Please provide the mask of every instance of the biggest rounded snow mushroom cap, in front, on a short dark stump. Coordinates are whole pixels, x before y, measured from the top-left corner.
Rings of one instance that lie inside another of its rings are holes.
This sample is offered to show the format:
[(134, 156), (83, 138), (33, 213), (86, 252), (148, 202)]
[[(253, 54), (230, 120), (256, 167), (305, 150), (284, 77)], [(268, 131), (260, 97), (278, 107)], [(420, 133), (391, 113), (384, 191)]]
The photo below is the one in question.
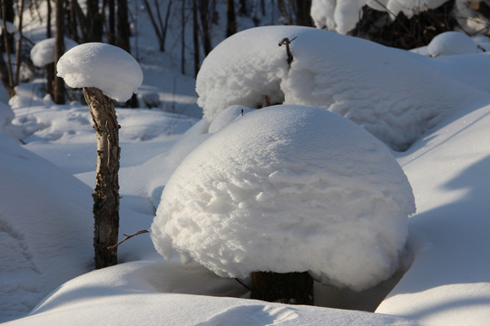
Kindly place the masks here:
[(223, 277), (309, 272), (367, 289), (387, 279), (415, 212), (387, 149), (336, 113), (298, 105), (254, 110), (184, 158), (151, 227), (172, 249)]

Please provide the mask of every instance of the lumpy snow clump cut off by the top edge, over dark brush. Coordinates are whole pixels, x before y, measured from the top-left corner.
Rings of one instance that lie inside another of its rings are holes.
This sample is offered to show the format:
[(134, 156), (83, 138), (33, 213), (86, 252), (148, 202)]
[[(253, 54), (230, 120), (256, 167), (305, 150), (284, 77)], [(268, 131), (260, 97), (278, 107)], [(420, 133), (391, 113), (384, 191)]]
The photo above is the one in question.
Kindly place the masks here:
[[(410, 18), (421, 10), (434, 9), (446, 2), (447, 0), (313, 0), (310, 13), (318, 28), (348, 34), (358, 24), (364, 5), (386, 11), (393, 19), (400, 12)], [(464, 0), (456, 2), (463, 3)]]

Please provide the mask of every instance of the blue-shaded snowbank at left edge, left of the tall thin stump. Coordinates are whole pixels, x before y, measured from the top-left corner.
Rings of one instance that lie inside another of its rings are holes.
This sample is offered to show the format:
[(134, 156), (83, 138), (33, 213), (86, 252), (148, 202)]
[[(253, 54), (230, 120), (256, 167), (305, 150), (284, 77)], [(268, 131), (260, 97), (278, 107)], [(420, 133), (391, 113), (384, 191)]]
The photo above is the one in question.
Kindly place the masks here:
[(84, 247), (92, 245), (93, 220), (89, 187), (3, 132), (0, 171), (2, 321), (88, 272), (93, 254)]

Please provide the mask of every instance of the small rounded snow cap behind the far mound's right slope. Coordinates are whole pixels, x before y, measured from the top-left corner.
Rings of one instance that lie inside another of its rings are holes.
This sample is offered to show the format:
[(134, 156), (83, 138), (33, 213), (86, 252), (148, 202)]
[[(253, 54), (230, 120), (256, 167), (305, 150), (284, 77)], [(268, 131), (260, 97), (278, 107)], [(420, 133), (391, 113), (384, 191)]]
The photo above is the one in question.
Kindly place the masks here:
[(460, 32), (445, 32), (436, 35), (427, 45), (427, 53), (431, 57), (481, 53), (478, 45), (471, 37)]

